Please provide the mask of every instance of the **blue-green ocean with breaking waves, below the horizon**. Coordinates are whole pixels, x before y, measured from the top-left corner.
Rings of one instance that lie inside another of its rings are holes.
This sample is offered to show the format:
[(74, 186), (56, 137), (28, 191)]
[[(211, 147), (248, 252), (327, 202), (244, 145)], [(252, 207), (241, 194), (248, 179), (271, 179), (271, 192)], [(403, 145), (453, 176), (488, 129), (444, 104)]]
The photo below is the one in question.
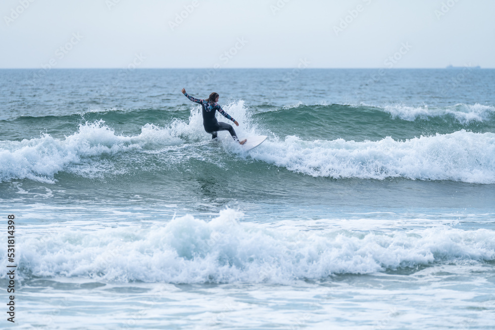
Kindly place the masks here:
[[(211, 140), (182, 88), (267, 140)], [(1, 328), (495, 328), (495, 70), (3, 69), (0, 91)]]

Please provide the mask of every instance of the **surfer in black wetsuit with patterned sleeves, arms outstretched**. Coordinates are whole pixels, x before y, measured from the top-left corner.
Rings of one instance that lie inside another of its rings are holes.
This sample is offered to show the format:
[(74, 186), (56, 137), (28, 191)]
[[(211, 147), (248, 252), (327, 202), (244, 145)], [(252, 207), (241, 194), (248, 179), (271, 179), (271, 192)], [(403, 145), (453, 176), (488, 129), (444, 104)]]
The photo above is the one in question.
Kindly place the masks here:
[(211, 134), (211, 139), (216, 139), (217, 138), (217, 132), (218, 131), (229, 131), (230, 135), (232, 135), (232, 138), (234, 138), (235, 141), (238, 141), (241, 144), (246, 143), (247, 140), (244, 141), (239, 141), (236, 135), (236, 131), (234, 131), (234, 128), (232, 125), (229, 125), (227, 123), (223, 122), (218, 122), (215, 118), (215, 111), (220, 112), (225, 118), (232, 120), (236, 126), (239, 126), (239, 123), (237, 120), (232, 118), (227, 112), (225, 112), (222, 107), (217, 103), (219, 95), (217, 93), (211, 93), (210, 96), (207, 99), (197, 99), (194, 98), (191, 95), (188, 95), (186, 93), (185, 89), (182, 89), (182, 94), (189, 98), (191, 101), (196, 102), (201, 104), (202, 107), (202, 113), (203, 113), (203, 127), (206, 133)]

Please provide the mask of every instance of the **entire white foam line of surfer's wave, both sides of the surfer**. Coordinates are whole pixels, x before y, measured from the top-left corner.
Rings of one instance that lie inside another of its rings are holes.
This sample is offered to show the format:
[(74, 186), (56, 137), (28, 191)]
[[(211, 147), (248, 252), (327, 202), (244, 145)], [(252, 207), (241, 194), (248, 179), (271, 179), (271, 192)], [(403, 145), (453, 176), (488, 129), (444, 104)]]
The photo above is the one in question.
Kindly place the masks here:
[[(495, 183), (494, 133), (462, 130), (406, 141), (394, 141), (390, 137), (361, 142), (342, 139), (303, 141), (296, 136), (280, 140), (252, 122), (251, 111), (243, 100), (230, 102), (224, 109), (241, 124), (235, 127), (239, 138), (269, 136), (267, 141), (249, 152), (252, 158), (297, 173), (335, 179), (402, 177)], [(243, 157), (248, 155), (228, 133), (222, 133), (218, 135), (222, 147)], [(178, 152), (167, 154), (169, 164), (187, 161), (191, 157), (203, 159), (206, 156), (203, 151), (207, 151), (204, 144), (208, 142), (209, 136), (204, 132), (197, 105), (193, 105), (188, 121), (175, 120), (168, 127), (146, 124), (136, 136), (117, 135), (103, 121), (85, 123), (64, 139), (44, 134), (31, 140), (0, 141), (0, 182), (26, 178), (53, 183), (54, 175), (61, 171), (98, 177), (115, 165), (108, 159), (91, 158), (104, 154), (176, 150)], [(187, 153), (183, 152), (184, 146), (188, 146)], [(113, 171), (119, 174), (125, 169)]]

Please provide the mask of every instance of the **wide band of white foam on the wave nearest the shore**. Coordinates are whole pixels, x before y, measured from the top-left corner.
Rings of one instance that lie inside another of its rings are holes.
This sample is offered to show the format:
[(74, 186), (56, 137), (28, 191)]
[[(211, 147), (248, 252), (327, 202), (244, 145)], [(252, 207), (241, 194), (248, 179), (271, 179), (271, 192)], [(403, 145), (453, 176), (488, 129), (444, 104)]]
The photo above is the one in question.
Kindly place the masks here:
[[(58, 227), (49, 234), (46, 229), (32, 232), (16, 239), (18, 275), (118, 282), (289, 283), (495, 259), (495, 233), (486, 229), (299, 231), (240, 223), (242, 217), (228, 209), (209, 222), (188, 215), (146, 228), (95, 224), (88, 229)], [(5, 249), (0, 245), (0, 253)], [(6, 262), (1, 259), (0, 267)]]

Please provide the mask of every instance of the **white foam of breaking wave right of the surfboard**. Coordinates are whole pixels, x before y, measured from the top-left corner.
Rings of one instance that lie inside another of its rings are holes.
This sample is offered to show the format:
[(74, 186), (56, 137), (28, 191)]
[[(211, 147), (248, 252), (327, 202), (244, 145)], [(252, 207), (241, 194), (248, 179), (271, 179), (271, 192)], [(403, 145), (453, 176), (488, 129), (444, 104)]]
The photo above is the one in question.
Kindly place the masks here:
[(495, 183), (495, 134), (452, 134), (395, 141), (270, 139), (251, 157), (314, 177)]

